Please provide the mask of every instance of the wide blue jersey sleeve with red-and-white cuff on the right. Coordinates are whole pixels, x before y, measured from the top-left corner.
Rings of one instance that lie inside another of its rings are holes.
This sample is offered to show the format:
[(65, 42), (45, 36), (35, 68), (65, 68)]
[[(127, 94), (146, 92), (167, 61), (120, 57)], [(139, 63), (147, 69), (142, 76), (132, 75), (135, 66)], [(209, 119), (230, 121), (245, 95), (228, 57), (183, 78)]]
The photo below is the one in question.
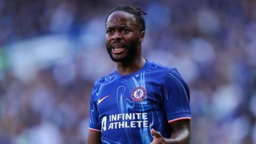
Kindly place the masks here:
[(168, 123), (191, 119), (189, 87), (177, 69), (165, 76), (162, 96)]

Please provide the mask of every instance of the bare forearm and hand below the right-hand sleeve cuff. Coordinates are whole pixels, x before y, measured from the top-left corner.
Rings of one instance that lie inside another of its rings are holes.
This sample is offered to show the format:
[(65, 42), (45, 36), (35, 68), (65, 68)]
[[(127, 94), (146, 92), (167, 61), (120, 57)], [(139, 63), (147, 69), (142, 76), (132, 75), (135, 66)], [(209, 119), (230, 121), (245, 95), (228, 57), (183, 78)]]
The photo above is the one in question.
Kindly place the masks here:
[(151, 129), (154, 135), (152, 144), (156, 143), (173, 143), (173, 144), (188, 144), (190, 143), (190, 120), (181, 120), (170, 123), (172, 136), (169, 139), (163, 138), (161, 133)]

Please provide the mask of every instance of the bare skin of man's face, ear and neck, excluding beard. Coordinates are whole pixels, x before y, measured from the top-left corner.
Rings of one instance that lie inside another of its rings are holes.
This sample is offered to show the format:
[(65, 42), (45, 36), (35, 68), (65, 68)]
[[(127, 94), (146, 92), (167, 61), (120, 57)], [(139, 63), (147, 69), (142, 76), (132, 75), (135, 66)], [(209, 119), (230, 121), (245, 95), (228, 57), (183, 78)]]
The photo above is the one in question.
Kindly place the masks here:
[[(144, 36), (145, 31), (139, 30), (135, 17), (132, 14), (117, 11), (109, 15), (106, 22), (106, 44), (109, 47), (113, 46), (113, 43), (117, 43), (116, 45), (124, 44), (122, 53), (115, 54), (111, 51), (112, 57), (121, 60), (126, 57), (128, 51), (137, 49), (137, 53), (131, 59), (117, 62), (119, 74), (127, 75), (134, 73), (145, 65), (146, 60), (141, 55), (141, 43)], [(138, 42), (137, 47), (131, 47), (131, 43), (136, 42)]]

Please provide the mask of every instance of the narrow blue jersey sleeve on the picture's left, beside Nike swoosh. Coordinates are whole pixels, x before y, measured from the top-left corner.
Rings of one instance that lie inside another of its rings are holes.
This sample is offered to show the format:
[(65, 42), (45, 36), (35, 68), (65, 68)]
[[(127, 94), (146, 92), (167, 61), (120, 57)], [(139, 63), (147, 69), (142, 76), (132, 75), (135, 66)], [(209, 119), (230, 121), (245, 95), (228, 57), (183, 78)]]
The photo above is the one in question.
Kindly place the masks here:
[(95, 95), (96, 95), (96, 92), (95, 92), (95, 85), (94, 85), (92, 89), (91, 100), (90, 100), (90, 121), (89, 121), (88, 129), (90, 131), (101, 132), (101, 121), (99, 117), (99, 111), (98, 111), (97, 103), (95, 103), (94, 101)]

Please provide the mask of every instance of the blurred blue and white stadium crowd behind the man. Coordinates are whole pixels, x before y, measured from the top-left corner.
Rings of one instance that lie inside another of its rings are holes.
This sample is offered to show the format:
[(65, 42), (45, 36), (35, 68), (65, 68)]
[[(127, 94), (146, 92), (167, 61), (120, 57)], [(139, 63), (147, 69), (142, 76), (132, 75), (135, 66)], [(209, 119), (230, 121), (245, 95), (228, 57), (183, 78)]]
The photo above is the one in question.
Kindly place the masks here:
[(144, 57), (190, 86), (191, 143), (256, 143), (256, 1), (0, 0), (1, 144), (86, 143), (116, 4), (148, 13)]

